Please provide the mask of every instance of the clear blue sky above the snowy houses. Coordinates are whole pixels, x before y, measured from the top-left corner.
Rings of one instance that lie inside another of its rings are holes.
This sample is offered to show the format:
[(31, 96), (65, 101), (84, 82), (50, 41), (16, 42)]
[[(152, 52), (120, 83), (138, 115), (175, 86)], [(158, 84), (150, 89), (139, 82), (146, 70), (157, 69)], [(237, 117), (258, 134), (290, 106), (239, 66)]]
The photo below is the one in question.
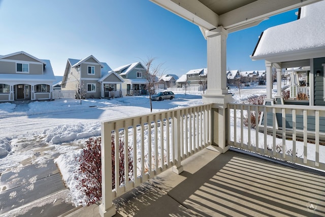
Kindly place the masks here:
[[(294, 21), (290, 11), (227, 39), (227, 69), (261, 70), (252, 61), (258, 36), (270, 26)], [(207, 46), (199, 27), (149, 0), (0, 0), (0, 55), (25, 51), (50, 59), (61, 76), (68, 58), (93, 55), (114, 69), (155, 58), (165, 74), (181, 76), (207, 66)]]

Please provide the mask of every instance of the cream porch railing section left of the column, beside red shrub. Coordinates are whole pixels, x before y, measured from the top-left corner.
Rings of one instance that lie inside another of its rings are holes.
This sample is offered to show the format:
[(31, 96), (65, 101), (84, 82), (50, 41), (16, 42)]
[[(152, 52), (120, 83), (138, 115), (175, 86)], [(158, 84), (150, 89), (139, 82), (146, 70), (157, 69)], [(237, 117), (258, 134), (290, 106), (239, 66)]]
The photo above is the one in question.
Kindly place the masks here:
[[(123, 162), (118, 157), (121, 154), (112, 155), (112, 139), (113, 153), (119, 153), (118, 144), (127, 144)], [(211, 104), (102, 122), (101, 214), (115, 213), (114, 198), (168, 168), (174, 166), (175, 172), (181, 172), (181, 161), (210, 143)], [(112, 165), (115, 165), (114, 180)], [(119, 171), (120, 168), (124, 171)]]

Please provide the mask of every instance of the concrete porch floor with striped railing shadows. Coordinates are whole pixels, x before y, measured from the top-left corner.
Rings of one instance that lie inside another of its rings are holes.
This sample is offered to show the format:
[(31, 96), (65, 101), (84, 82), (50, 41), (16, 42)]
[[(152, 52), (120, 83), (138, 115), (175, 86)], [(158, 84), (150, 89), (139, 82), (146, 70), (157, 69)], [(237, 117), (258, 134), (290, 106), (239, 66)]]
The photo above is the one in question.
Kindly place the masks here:
[[(204, 149), (113, 202), (115, 216), (324, 216), (325, 174)], [(93, 204), (65, 216), (100, 216)]]

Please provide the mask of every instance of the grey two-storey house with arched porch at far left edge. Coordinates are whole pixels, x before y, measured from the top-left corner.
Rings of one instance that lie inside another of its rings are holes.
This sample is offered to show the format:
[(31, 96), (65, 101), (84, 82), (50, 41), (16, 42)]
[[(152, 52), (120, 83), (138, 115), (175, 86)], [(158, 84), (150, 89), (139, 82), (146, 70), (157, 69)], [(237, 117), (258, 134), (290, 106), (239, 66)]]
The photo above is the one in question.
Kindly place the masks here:
[(0, 56), (0, 101), (51, 100), (54, 81), (50, 60), (24, 51)]

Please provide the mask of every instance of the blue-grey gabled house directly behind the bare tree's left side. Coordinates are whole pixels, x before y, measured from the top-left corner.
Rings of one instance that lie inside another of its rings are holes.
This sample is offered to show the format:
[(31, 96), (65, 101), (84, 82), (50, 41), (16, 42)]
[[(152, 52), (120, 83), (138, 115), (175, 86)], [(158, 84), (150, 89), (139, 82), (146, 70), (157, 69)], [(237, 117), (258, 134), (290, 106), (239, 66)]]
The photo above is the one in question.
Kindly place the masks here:
[(114, 69), (115, 73), (123, 78), (123, 95), (147, 94), (147, 69), (141, 62), (122, 65)]

